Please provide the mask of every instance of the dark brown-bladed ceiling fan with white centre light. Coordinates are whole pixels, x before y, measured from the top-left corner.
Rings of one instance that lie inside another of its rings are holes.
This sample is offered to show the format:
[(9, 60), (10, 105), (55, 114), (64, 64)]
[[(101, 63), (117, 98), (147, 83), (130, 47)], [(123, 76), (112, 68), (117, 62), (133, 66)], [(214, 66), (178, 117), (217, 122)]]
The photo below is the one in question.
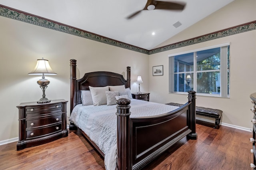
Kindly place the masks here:
[(146, 6), (137, 12), (134, 12), (130, 16), (126, 17), (127, 19), (131, 19), (143, 10), (183, 10), (186, 4), (183, 2), (166, 2), (166, 1), (158, 1), (158, 0), (148, 0)]

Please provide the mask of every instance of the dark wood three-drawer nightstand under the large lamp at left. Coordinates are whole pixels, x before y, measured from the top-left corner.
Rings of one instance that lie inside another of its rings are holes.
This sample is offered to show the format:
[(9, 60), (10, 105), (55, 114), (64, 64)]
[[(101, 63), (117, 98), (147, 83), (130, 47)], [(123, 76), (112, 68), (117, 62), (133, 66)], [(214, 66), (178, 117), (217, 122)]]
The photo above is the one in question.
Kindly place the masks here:
[(63, 99), (49, 103), (20, 103), (17, 150), (45, 144), (68, 136), (67, 103)]

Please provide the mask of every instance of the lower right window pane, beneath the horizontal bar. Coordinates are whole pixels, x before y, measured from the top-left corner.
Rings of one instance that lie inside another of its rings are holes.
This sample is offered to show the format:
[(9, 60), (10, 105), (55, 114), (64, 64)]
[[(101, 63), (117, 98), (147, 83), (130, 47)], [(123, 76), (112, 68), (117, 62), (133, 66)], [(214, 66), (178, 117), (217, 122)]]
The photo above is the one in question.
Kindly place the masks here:
[(220, 71), (197, 73), (197, 92), (220, 94)]

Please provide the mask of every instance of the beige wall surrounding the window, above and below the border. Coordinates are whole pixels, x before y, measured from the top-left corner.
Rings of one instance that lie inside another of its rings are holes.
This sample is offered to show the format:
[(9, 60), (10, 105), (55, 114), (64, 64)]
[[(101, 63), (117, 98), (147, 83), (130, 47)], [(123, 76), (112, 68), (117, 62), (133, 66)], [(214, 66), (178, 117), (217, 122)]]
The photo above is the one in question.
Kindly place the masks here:
[[(209, 34), (255, 20), (255, 0), (236, 0), (170, 39), (165, 45)], [(234, 24), (233, 24), (234, 23)], [(191, 36), (191, 34), (193, 36)], [(197, 96), (197, 106), (223, 111), (222, 123), (252, 128), (249, 95), (256, 92), (256, 30), (198, 43), (149, 56), (150, 99), (159, 103), (186, 103), (186, 95), (168, 93), (168, 55), (230, 42), (230, 98)], [(162, 44), (164, 45), (164, 44)], [(152, 66), (164, 65), (163, 76), (152, 76)]]

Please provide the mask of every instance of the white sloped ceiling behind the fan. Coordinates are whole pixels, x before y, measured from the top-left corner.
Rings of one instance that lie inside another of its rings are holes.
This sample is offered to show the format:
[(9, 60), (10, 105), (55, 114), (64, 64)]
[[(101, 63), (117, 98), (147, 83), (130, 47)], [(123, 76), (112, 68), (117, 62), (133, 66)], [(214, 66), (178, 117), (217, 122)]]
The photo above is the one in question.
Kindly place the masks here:
[[(147, 0), (0, 0), (0, 4), (150, 50), (234, 0), (165, 1), (185, 2), (186, 7), (144, 10), (128, 20)], [(175, 28), (176, 22), (182, 25)]]

